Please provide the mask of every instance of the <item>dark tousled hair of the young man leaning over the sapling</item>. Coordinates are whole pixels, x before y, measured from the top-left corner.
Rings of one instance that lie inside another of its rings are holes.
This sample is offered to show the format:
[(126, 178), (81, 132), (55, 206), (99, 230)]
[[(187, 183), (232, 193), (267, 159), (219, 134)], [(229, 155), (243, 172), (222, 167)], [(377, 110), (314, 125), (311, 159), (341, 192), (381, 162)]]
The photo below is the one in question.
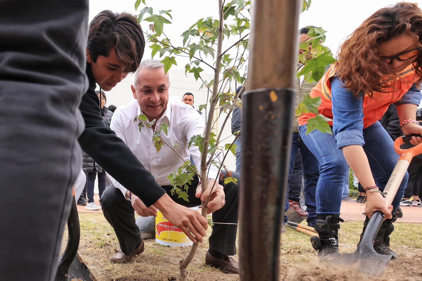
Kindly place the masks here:
[(92, 60), (108, 56), (116, 47), (116, 55), (126, 65), (126, 72), (135, 72), (145, 48), (142, 29), (130, 13), (102, 11), (89, 24), (87, 49)]

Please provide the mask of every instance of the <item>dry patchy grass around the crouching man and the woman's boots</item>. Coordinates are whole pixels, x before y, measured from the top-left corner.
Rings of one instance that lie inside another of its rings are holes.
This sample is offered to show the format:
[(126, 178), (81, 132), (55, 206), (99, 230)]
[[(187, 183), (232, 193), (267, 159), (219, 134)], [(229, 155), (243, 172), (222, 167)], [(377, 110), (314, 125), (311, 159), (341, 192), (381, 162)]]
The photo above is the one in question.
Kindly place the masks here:
[[(178, 280), (179, 260), (189, 251), (189, 247), (170, 248), (145, 240), (145, 252), (135, 257), (133, 262), (116, 265), (109, 261), (119, 243), (113, 229), (103, 214), (79, 214), (81, 222), (81, 242), (79, 254), (98, 281), (168, 281)], [(339, 233), (340, 252), (354, 252), (362, 230), (362, 222), (344, 222)], [(211, 231), (208, 231), (208, 234)], [(65, 247), (65, 233), (62, 251)], [(398, 254), (410, 256), (422, 253), (422, 224), (396, 223), (392, 234), (392, 248)], [(189, 265), (189, 280), (235, 281), (236, 275), (221, 273), (205, 265), (204, 258), (208, 242), (198, 247), (198, 252)], [(235, 259), (238, 257), (235, 256)], [(287, 276), (292, 265), (300, 265), (316, 259), (316, 252), (309, 243), (309, 236), (287, 229), (282, 236), (280, 255), (280, 279)], [(422, 268), (420, 268), (422, 270)], [(394, 280), (394, 279), (392, 279)]]

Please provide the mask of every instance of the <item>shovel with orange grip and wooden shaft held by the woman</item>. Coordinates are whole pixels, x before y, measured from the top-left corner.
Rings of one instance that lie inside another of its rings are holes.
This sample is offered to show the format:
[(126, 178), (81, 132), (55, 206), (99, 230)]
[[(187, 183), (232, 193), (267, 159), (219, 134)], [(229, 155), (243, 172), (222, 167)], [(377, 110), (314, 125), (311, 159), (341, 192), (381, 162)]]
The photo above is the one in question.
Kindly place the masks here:
[[(410, 142), (412, 136), (419, 135), (402, 136), (394, 142), (394, 149), (400, 155), (400, 158), (383, 191), (384, 201), (387, 207), (391, 205), (412, 158), (422, 153), (422, 143), (409, 149), (400, 148), (400, 145)], [(330, 262), (336, 265), (358, 266), (362, 273), (369, 276), (380, 275), (392, 257), (392, 255), (378, 254), (373, 249), (373, 241), (383, 221), (384, 214), (381, 211), (374, 212), (366, 227), (365, 233), (363, 233), (361, 241), (357, 245), (356, 252), (341, 254), (341, 256), (336, 257)]]

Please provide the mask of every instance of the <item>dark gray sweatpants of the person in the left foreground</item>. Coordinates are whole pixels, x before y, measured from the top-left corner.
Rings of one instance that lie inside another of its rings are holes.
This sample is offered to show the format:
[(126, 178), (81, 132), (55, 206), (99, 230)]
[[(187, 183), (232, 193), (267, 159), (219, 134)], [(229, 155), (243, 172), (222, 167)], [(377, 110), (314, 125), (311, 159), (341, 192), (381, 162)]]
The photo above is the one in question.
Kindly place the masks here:
[(81, 167), (88, 0), (0, 0), (0, 279), (50, 281)]

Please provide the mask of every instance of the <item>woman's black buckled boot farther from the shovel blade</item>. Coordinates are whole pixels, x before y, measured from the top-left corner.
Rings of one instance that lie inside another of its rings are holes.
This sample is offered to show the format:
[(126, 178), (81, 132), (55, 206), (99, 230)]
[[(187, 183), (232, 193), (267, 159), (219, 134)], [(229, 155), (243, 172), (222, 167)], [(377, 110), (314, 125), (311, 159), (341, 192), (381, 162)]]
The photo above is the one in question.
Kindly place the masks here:
[(318, 251), (318, 258), (321, 260), (330, 260), (338, 254), (338, 229), (339, 222), (344, 222), (337, 214), (317, 214), (315, 222), (315, 231), (317, 236), (311, 237), (311, 244)]

